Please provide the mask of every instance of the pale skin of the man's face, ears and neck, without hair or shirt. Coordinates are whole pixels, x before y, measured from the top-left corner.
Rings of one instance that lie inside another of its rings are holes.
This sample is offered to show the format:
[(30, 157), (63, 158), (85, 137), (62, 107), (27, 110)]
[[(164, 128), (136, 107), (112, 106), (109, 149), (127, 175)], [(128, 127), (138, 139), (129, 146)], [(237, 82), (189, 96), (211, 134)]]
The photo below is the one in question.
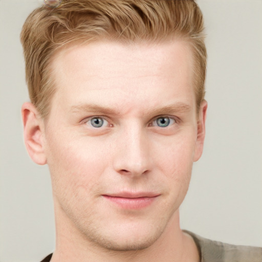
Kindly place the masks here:
[(182, 40), (99, 41), (55, 55), (48, 119), (22, 108), (29, 155), (51, 173), (52, 262), (200, 261), (179, 224), (205, 137), (192, 67)]

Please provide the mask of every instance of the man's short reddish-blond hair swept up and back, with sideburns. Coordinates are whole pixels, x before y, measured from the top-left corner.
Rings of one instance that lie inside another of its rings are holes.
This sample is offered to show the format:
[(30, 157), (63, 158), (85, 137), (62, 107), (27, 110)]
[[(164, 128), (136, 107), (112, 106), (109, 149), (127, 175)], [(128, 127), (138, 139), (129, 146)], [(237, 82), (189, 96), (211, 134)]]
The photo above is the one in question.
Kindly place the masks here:
[(55, 92), (50, 63), (54, 53), (74, 41), (110, 39), (124, 42), (165, 41), (179, 37), (191, 44), (195, 95), (205, 94), (206, 48), (203, 16), (193, 0), (63, 0), (43, 5), (21, 31), (31, 102), (45, 118)]

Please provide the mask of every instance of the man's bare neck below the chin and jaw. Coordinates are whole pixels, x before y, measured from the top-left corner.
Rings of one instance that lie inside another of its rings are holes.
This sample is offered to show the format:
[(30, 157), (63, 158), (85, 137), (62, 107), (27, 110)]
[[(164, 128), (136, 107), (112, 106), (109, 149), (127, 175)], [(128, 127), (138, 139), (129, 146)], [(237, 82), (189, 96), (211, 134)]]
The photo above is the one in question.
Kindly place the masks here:
[[(56, 216), (57, 217), (57, 216)], [(118, 251), (105, 249), (79, 233), (64, 217), (56, 221), (56, 250), (51, 262), (198, 262), (199, 254), (192, 238), (179, 226), (179, 211), (174, 213), (157, 241), (142, 250)]]

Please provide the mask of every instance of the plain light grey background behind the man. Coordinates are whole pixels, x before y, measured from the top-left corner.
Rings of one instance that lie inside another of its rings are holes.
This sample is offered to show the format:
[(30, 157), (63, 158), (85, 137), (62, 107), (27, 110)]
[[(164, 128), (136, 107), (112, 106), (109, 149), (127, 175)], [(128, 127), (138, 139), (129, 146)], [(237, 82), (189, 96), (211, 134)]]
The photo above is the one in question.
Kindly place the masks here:
[[(39, 0), (0, 0), (0, 261), (39, 261), (54, 249), (47, 166), (28, 157), (28, 100), (19, 33)], [(182, 228), (262, 246), (262, 1), (198, 1), (207, 37), (205, 150), (181, 207)]]

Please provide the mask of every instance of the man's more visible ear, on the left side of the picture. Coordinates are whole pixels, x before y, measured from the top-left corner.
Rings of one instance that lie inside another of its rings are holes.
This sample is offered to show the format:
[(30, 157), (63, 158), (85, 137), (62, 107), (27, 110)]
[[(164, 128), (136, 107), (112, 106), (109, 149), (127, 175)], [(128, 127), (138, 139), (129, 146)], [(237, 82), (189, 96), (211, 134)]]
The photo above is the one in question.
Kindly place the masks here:
[(43, 120), (36, 107), (29, 102), (21, 108), (24, 124), (24, 140), (31, 159), (39, 165), (45, 165), (47, 159), (43, 150)]

